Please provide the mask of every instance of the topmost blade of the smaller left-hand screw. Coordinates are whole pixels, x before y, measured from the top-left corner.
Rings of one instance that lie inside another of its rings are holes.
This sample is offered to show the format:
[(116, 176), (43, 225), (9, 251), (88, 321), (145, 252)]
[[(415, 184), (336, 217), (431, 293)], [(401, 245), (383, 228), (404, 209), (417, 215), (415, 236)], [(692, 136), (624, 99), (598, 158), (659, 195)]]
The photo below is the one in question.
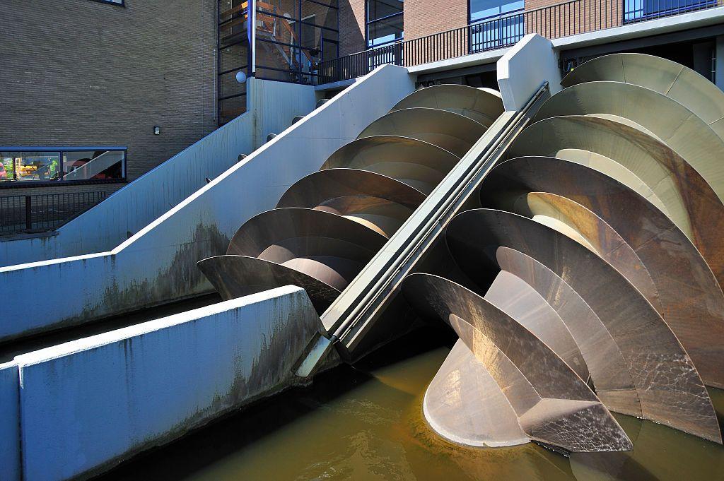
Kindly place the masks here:
[(442, 84), (421, 88), (397, 102), (390, 111), (403, 108), (437, 108), (460, 114), (490, 127), (503, 113), (500, 94), (480, 90), (467, 85)]

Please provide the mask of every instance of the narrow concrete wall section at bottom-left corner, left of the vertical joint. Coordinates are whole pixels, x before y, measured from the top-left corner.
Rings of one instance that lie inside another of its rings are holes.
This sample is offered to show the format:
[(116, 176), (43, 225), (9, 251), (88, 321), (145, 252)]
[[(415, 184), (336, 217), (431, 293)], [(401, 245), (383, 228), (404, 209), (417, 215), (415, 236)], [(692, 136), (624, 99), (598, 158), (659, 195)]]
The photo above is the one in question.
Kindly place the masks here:
[(0, 481), (20, 481), (20, 380), (17, 364), (0, 364)]

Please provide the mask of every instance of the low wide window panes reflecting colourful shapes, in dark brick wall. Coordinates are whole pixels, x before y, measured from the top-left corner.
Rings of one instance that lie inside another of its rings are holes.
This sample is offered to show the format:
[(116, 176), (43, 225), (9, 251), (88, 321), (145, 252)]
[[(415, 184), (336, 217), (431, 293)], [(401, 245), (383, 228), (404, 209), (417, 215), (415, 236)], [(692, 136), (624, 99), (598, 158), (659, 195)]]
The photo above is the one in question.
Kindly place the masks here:
[(125, 179), (125, 148), (0, 147), (0, 184)]

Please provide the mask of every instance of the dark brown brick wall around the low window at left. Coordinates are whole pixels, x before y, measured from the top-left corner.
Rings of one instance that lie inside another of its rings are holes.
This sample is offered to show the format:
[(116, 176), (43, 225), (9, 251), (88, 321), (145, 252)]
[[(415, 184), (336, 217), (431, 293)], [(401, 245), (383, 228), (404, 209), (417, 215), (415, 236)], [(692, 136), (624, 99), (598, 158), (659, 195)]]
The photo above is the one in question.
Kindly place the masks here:
[(216, 128), (215, 12), (216, 0), (1, 0), (0, 145), (127, 145), (129, 180), (166, 161)]

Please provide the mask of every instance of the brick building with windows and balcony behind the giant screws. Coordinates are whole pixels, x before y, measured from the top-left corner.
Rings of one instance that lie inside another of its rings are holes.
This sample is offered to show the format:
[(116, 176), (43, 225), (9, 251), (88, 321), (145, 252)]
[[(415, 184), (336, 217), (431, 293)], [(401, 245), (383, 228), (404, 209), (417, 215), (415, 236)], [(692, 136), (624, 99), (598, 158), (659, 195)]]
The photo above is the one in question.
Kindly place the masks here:
[[(593, 32), (586, 46), (560, 50), (562, 69), (641, 51), (724, 84), (715, 75), (722, 22), (712, 15), (700, 27), (675, 25), (676, 15), (717, 1), (256, 0), (254, 12), (247, 0), (4, 0), (0, 203), (117, 190), (242, 114), (252, 75), (318, 85), (383, 63), (467, 57), (418, 82), (496, 87), (495, 59), (526, 33)], [(648, 32), (645, 21), (658, 18), (674, 20)], [(618, 33), (627, 26), (644, 27)]]

